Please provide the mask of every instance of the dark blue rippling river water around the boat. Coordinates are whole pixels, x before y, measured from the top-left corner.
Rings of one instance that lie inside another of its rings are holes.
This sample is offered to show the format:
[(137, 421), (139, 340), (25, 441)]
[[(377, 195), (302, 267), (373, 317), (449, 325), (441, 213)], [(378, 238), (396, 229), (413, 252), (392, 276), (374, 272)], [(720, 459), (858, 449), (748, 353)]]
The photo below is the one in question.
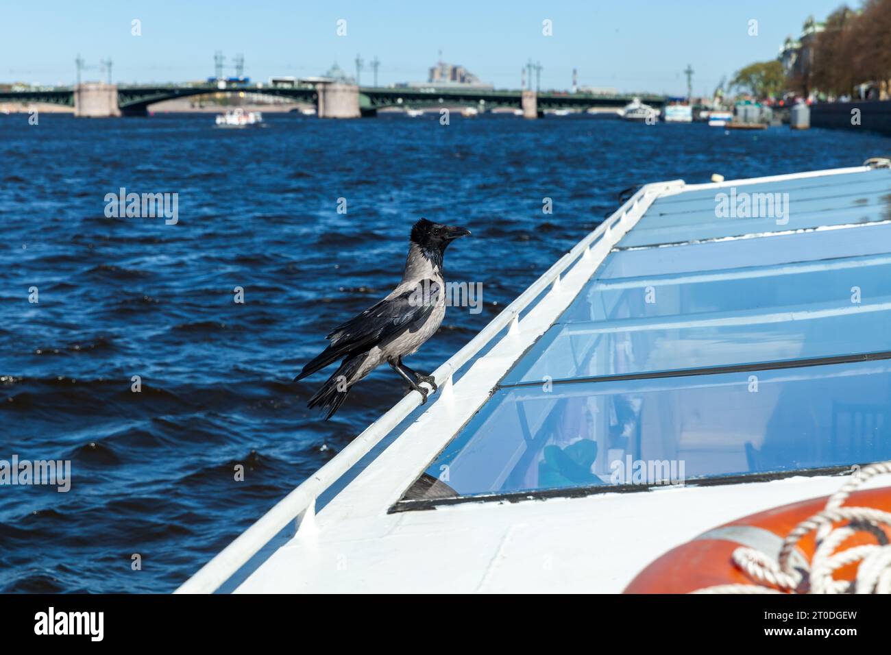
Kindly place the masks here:
[[(417, 217), (470, 227), (446, 273), (485, 300), (449, 310), (410, 362), (427, 371), (626, 187), (891, 151), (865, 131), (266, 118), (0, 116), (0, 459), (72, 467), (69, 493), (0, 486), (0, 591), (171, 591), (402, 397), (380, 370), (323, 422), (305, 407), (323, 375), (290, 381), (396, 283)], [(178, 193), (178, 223), (106, 217), (119, 187)]]

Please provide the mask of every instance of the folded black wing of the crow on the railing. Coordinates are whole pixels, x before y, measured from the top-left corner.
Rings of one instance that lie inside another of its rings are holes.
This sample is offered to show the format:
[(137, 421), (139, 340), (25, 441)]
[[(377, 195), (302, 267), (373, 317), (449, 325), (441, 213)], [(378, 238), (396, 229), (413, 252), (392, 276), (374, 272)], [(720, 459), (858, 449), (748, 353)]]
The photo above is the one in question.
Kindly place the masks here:
[(341, 357), (367, 352), (383, 340), (409, 329), (408, 326), (429, 316), (442, 296), (433, 280), (422, 280), (409, 291), (381, 300), (362, 314), (331, 331), (331, 345), (303, 367), (294, 381), (323, 369)]

